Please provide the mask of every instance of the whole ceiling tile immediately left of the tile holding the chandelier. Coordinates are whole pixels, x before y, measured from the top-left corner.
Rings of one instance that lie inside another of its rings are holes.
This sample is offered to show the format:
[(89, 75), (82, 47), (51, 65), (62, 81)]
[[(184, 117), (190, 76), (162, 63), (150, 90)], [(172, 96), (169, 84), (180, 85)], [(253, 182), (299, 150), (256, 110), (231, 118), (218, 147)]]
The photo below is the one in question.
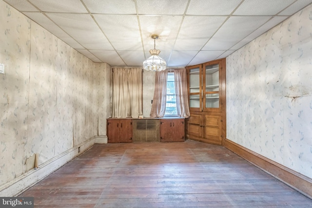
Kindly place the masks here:
[(94, 18), (117, 51), (143, 50), (137, 16), (94, 15)]

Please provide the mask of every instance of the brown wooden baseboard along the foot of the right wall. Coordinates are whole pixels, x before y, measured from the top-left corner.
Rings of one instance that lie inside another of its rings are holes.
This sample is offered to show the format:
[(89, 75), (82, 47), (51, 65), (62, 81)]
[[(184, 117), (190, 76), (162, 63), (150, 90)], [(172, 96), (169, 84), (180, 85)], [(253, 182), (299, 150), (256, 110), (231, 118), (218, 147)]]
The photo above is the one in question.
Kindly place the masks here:
[(225, 148), (312, 199), (312, 179), (225, 139)]

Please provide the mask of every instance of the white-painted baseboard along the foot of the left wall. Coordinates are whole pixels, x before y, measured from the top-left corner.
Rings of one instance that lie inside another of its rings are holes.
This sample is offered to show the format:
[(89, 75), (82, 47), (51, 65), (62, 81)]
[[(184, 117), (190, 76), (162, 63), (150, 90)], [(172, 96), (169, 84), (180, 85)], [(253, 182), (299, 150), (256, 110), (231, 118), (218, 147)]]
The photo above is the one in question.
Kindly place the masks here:
[[(95, 136), (87, 139), (81, 144), (59, 154), (58, 156), (39, 165), (38, 169), (32, 169), (13, 180), (0, 186), (1, 197), (18, 196), (22, 191), (32, 187), (47, 175), (58, 170), (64, 164), (68, 163), (82, 152), (88, 150), (95, 144)], [(80, 152), (78, 152), (78, 150)]]

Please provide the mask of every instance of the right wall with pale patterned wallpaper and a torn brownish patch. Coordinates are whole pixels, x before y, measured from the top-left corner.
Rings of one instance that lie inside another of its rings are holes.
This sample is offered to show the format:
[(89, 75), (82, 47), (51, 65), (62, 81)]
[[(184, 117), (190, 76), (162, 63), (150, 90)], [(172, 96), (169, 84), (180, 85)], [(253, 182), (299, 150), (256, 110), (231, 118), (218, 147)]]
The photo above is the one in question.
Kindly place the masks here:
[(227, 57), (227, 138), (312, 178), (312, 5)]

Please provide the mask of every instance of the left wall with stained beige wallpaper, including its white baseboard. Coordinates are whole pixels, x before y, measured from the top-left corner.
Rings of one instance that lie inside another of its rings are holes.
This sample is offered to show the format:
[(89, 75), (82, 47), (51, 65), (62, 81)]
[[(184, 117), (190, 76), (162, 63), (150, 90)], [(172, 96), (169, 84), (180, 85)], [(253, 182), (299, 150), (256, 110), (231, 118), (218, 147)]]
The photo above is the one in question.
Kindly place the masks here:
[[(106, 120), (100, 132), (98, 126), (100, 116), (109, 113), (110, 73), (103, 71), (109, 66), (82, 56), (3, 1), (0, 37), (5, 66), (0, 74), (0, 195), (10, 196), (77, 156), (79, 146), (88, 149), (95, 135), (106, 135)], [(98, 93), (104, 95), (99, 99)], [(28, 171), (26, 159), (35, 153), (39, 169)], [(29, 180), (20, 182), (25, 177)]]

